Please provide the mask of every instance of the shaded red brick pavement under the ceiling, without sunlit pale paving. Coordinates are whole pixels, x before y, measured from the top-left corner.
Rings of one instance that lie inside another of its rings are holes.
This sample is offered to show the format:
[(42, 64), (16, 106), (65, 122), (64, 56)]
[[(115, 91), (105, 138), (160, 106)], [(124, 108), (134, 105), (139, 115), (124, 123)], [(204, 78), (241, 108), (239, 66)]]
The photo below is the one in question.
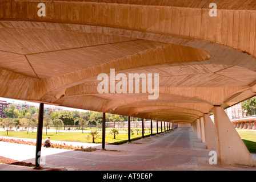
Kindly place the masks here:
[[(77, 170), (198, 170), (197, 156), (207, 160), (208, 154), (207, 150), (193, 148), (190, 129), (177, 129), (120, 146), (106, 145), (106, 151), (49, 155), (45, 161), (49, 166)], [(33, 163), (34, 159), (26, 162)]]

